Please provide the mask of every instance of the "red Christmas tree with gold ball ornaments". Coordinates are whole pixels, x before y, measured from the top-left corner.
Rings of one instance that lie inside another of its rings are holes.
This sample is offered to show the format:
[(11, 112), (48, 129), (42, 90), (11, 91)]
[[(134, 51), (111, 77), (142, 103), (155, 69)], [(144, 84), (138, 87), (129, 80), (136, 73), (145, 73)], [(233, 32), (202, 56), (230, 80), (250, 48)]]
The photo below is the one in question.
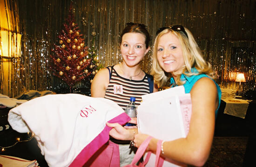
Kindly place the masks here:
[[(94, 48), (85, 47), (79, 27), (74, 23), (72, 4), (59, 38), (59, 44), (54, 44), (50, 55), (53, 63), (50, 65), (53, 74), (65, 81), (70, 88), (81, 80), (88, 79), (90, 83), (95, 73), (101, 68)], [(89, 52), (88, 52), (89, 50)]]

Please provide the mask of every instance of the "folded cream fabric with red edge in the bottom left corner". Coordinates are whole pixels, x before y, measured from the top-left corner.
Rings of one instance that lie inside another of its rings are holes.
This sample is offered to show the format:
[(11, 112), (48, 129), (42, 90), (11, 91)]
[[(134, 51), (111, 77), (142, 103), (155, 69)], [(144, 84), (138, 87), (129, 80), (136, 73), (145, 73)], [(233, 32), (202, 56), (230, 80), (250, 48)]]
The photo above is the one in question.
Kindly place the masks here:
[(38, 167), (38, 163), (36, 160), (0, 155), (0, 167)]

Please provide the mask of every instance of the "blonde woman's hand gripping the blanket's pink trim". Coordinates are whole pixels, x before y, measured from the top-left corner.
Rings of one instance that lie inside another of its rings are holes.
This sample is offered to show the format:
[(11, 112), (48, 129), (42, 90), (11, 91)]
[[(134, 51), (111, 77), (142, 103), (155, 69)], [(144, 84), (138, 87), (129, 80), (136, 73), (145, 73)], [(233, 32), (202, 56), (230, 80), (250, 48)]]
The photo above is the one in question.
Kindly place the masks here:
[[(109, 131), (109, 135), (117, 140), (133, 140), (130, 130), (122, 127), (119, 123), (106, 123), (108, 127), (113, 127)], [(133, 134), (133, 132), (132, 132)]]

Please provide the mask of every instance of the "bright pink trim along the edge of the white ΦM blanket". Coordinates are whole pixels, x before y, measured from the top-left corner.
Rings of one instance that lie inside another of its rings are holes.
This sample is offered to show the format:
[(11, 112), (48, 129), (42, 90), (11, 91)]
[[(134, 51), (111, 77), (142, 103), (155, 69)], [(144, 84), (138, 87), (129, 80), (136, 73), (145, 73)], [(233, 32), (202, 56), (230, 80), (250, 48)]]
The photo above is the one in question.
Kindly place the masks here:
[[(129, 120), (131, 120), (130, 117), (127, 114), (122, 113), (108, 122), (124, 125)], [(94, 140), (92, 140), (86, 147), (82, 149), (69, 167), (82, 167), (91, 158), (91, 156), (109, 140), (110, 130), (111, 127), (106, 126), (102, 132), (94, 138)]]

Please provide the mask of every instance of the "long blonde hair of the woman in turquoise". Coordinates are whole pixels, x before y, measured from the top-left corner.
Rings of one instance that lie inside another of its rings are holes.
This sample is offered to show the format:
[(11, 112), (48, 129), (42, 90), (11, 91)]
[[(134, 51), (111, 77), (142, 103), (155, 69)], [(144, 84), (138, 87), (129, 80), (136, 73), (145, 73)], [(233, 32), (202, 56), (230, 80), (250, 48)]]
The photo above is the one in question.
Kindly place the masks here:
[[(169, 79), (172, 77), (171, 73), (165, 72), (162, 67), (159, 65), (157, 60), (157, 46), (159, 43), (159, 39), (163, 34), (173, 33), (175, 34), (181, 45), (182, 45), (182, 53), (185, 62), (185, 66), (182, 69), (182, 73), (187, 76), (198, 75), (200, 73), (205, 73), (210, 78), (214, 78), (213, 70), (209, 62), (206, 62), (203, 59), (201, 49), (198, 47), (192, 33), (185, 28), (188, 37), (182, 31), (174, 31), (171, 28), (166, 28), (161, 33), (159, 33), (155, 38), (154, 48), (153, 48), (153, 66), (151, 70), (151, 74), (154, 76), (155, 83), (158, 87), (166, 86)], [(193, 73), (191, 69), (195, 67), (198, 73)], [(177, 85), (183, 85), (186, 81), (181, 80), (180, 77), (182, 73), (175, 73), (178, 79), (176, 80)]]

